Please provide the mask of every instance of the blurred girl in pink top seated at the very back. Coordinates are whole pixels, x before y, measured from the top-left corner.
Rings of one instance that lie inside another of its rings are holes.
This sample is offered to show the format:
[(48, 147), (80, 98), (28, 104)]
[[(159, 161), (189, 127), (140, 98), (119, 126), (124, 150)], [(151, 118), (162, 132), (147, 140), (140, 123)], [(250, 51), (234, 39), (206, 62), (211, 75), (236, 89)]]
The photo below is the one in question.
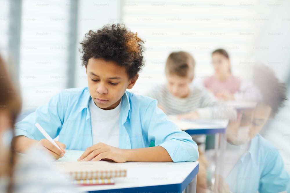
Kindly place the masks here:
[(256, 100), (252, 83), (233, 76), (228, 53), (217, 49), (212, 53), (215, 75), (203, 81), (206, 87), (220, 100)]

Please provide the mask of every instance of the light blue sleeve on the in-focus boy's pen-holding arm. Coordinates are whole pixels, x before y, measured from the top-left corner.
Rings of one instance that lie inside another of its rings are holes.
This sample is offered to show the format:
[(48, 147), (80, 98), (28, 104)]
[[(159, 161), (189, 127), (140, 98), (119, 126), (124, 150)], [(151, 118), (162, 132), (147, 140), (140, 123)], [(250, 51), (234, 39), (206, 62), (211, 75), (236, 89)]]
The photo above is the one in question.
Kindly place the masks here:
[(58, 93), (47, 104), (39, 106), (35, 112), (17, 122), (15, 124), (16, 136), (23, 135), (30, 139), (43, 139), (44, 136), (35, 126), (35, 123), (39, 123), (50, 137), (57, 137), (67, 108), (65, 100), (62, 92)]

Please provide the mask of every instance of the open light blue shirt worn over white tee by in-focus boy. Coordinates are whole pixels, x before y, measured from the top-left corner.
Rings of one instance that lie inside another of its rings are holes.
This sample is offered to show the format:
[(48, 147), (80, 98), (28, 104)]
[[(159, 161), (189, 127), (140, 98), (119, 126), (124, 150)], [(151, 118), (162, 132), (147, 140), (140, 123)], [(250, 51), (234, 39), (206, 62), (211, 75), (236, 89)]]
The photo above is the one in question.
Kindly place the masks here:
[[(93, 145), (90, 99), (88, 87), (65, 89), (16, 123), (16, 135), (43, 139), (35, 126), (38, 122), (50, 137), (59, 135), (58, 140), (67, 149), (86, 150)], [(197, 144), (157, 108), (157, 100), (126, 91), (120, 112), (119, 148), (145, 148), (151, 141), (165, 148), (174, 162), (198, 159)]]

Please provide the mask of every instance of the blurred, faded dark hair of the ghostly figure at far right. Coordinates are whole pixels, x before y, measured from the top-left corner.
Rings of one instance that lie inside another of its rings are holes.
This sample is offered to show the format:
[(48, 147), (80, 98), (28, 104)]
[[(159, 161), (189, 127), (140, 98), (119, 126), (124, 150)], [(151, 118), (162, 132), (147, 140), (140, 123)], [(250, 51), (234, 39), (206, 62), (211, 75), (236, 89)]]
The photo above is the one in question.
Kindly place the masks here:
[(262, 94), (262, 103), (271, 107), (271, 117), (274, 117), (284, 107), (287, 88), (278, 80), (274, 71), (264, 64), (256, 64), (253, 75), (253, 84)]

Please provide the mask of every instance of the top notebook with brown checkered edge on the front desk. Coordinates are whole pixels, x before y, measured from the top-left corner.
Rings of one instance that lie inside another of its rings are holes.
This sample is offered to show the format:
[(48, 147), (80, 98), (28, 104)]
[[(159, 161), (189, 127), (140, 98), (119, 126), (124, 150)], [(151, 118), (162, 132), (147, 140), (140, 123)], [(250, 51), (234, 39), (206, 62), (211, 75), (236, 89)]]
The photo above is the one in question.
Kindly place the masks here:
[(126, 177), (127, 174), (126, 169), (114, 166), (108, 161), (57, 161), (50, 164), (61, 172), (69, 174), (72, 180)]

